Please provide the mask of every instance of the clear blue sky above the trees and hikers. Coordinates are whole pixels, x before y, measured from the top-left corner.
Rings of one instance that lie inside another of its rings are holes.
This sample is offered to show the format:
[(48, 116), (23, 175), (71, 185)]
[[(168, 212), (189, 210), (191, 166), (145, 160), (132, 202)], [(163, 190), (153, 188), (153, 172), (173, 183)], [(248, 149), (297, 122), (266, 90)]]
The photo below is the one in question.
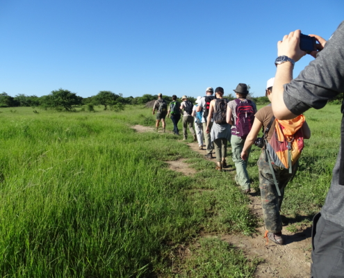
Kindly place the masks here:
[(328, 39), (342, 20), (343, 0), (0, 0), (0, 92), (197, 97), (247, 83), (259, 97), (278, 40), (297, 28)]

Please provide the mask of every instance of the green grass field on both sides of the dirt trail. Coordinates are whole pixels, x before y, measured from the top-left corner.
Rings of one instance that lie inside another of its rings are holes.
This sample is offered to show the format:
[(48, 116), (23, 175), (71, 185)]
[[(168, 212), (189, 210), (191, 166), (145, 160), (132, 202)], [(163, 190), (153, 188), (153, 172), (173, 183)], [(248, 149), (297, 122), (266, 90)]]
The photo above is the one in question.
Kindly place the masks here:
[[(150, 109), (36, 110), (0, 108), (1, 277), (172, 277), (171, 254), (201, 231), (254, 231), (257, 220), (232, 174), (215, 171), (177, 136), (131, 129), (154, 125)], [(325, 200), (339, 110), (306, 113), (312, 138), (282, 211), (296, 223)], [(249, 161), (254, 187), (259, 152)], [(179, 158), (188, 158), (195, 177), (167, 168), (164, 161)], [(258, 263), (216, 239), (202, 240), (199, 252), (179, 277), (252, 277)], [(214, 263), (197, 268), (202, 258)]]

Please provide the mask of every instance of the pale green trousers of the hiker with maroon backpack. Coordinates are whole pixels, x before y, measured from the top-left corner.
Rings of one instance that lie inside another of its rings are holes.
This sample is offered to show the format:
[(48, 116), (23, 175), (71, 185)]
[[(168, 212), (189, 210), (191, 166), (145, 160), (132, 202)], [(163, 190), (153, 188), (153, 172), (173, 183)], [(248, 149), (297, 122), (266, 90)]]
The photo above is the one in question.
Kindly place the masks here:
[(246, 170), (251, 148), (248, 149), (247, 159), (243, 161), (243, 159), (241, 158), (241, 152), (243, 151), (244, 144), (245, 140), (241, 139), (239, 136), (231, 136), (231, 152), (233, 155), (232, 158), (234, 164), (236, 165), (236, 183), (238, 183), (243, 190), (246, 190), (251, 188), (249, 176)]

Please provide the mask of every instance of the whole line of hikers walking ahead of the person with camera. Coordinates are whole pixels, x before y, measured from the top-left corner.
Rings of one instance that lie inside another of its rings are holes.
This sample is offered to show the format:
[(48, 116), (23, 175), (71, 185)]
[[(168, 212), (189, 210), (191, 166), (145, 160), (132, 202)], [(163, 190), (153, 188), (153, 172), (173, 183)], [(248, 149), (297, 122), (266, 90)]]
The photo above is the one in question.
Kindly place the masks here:
[[(271, 101), (272, 86), (275, 78), (269, 79), (265, 96)], [(216, 170), (227, 167), (227, 145), (231, 144), (232, 159), (236, 166), (236, 183), (241, 186), (244, 195), (249, 194), (250, 179), (247, 163), (252, 145), (261, 147), (262, 152), (257, 163), (259, 168), (259, 188), (265, 223), (265, 238), (283, 245), (282, 221), (279, 213), (284, 198), (284, 188), (295, 176), (297, 161), (304, 147), (304, 139), (311, 137), (311, 131), (304, 115), (293, 120), (277, 120), (269, 104), (257, 111), (254, 101), (247, 99), (249, 91), (245, 83), (239, 83), (234, 90), (236, 99), (228, 101), (223, 98), (224, 89), (206, 88), (204, 97), (197, 97), (193, 105), (183, 95), (182, 102), (172, 96), (167, 103), (161, 93), (154, 103), (153, 115), (156, 113), (156, 131), (160, 122), (165, 132), (165, 117), (170, 117), (173, 133), (179, 135), (178, 122), (183, 115), (183, 140), (187, 140), (189, 129), (193, 139), (198, 141), (199, 149), (206, 145), (206, 158), (216, 155)], [(193, 129), (195, 124), (195, 130)], [(263, 136), (257, 138), (262, 129)]]

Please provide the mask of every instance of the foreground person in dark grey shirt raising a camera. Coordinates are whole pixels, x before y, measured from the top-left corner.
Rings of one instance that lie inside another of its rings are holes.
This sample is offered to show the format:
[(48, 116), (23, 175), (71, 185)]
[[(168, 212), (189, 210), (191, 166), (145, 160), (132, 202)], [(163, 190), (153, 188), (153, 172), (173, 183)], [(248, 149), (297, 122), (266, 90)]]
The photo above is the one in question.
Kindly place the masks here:
[[(327, 42), (318, 35), (310, 36), (319, 42), (309, 51), (316, 60), (295, 79), (294, 63), (306, 55), (300, 48), (301, 31), (284, 35), (277, 44), (277, 71), (271, 99), (277, 119), (293, 119), (309, 108), (323, 108), (329, 99), (344, 92), (344, 22)], [(331, 187), (324, 206), (313, 219), (312, 243), (311, 277), (344, 277), (344, 117)]]

